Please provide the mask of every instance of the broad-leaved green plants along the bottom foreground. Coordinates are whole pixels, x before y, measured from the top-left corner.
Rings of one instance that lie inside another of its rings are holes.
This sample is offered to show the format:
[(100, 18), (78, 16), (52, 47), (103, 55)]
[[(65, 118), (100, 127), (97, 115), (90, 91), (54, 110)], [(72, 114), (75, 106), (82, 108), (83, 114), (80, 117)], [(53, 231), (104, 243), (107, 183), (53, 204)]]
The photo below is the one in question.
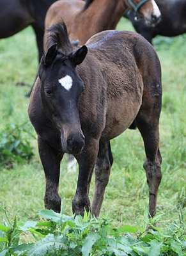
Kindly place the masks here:
[[(4, 210), (5, 214), (6, 211)], [(86, 211), (85, 211), (86, 212)], [(0, 256), (61, 256), (61, 255), (179, 255), (186, 253), (186, 233), (182, 212), (180, 223), (173, 223), (166, 229), (153, 224), (161, 216), (148, 220), (145, 214), (144, 227), (128, 225), (112, 227), (108, 218), (66, 216), (51, 210), (43, 210), (40, 215), (48, 219), (40, 222), (22, 221), (16, 218), (11, 225), (0, 224)], [(7, 214), (6, 214), (7, 216)], [(7, 216), (8, 218), (8, 216)], [(146, 227), (151, 227), (148, 233)], [(36, 243), (20, 244), (20, 234), (31, 232)]]

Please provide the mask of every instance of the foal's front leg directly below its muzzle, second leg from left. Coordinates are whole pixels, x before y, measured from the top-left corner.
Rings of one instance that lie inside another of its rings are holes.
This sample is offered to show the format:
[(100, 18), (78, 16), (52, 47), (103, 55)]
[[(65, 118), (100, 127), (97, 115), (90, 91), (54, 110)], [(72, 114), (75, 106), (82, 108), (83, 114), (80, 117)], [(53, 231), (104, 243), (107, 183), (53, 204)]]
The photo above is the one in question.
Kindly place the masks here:
[(72, 211), (75, 214), (84, 215), (84, 209), (88, 212), (90, 210), (89, 202), (89, 183), (95, 161), (98, 154), (98, 140), (86, 137), (86, 145), (82, 154), (76, 156), (77, 163), (79, 164), (79, 176), (77, 181), (77, 189), (72, 200)]

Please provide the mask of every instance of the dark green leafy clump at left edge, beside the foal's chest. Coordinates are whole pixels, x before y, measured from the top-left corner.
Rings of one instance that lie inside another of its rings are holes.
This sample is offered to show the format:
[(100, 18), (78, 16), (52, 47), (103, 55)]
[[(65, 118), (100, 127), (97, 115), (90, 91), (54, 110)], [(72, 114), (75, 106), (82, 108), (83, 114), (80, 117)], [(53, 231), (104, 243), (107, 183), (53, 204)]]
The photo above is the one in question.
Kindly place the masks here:
[(0, 133), (0, 166), (12, 167), (13, 161), (23, 163), (33, 156), (26, 124), (6, 124)]

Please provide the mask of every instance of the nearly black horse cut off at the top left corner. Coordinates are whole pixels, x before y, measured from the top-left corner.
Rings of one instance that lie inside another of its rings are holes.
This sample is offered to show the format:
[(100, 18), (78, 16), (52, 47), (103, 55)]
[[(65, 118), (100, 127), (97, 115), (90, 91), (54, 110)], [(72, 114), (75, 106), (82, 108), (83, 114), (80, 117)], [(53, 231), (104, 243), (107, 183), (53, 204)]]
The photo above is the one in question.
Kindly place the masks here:
[(15, 35), (31, 25), (35, 31), (38, 59), (43, 55), (45, 15), (57, 0), (1, 0), (0, 38)]

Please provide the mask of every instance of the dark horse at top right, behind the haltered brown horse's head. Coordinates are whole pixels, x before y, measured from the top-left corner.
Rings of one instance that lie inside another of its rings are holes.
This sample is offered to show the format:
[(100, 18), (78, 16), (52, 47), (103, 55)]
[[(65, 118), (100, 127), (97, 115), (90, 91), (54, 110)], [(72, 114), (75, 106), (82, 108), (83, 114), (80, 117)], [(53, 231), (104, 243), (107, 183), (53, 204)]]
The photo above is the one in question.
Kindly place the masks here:
[(145, 21), (136, 20), (134, 12), (125, 13), (138, 33), (144, 36), (150, 44), (152, 38), (161, 36), (178, 36), (186, 33), (186, 0), (166, 1), (156, 0), (162, 14), (162, 19), (155, 26), (147, 26)]

